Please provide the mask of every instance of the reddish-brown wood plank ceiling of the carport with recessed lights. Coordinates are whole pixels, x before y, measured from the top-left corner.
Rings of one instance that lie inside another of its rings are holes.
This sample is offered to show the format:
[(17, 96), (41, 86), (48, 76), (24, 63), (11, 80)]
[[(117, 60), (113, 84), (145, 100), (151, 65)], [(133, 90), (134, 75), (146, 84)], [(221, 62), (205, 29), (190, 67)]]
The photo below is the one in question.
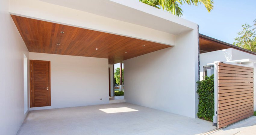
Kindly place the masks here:
[(109, 64), (115, 64), (170, 47), (21, 16), (11, 15), (11, 17), (29, 52), (108, 58)]

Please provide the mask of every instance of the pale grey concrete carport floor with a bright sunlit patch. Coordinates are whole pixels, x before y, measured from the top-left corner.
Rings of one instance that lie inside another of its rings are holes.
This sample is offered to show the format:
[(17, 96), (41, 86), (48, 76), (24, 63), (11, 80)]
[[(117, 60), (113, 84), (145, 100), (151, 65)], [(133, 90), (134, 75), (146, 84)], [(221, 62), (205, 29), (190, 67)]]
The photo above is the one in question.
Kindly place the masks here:
[(128, 103), (30, 111), (18, 135), (203, 134), (211, 122)]

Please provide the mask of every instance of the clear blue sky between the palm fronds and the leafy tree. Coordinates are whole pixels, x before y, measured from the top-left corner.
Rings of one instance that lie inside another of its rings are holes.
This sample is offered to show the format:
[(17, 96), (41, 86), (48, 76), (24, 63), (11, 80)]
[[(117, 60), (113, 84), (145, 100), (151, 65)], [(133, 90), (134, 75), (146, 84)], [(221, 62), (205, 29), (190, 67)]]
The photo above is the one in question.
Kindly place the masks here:
[(199, 33), (233, 44), (246, 22), (256, 19), (256, 0), (214, 0), (211, 13), (204, 5), (181, 5), (182, 18), (199, 25)]

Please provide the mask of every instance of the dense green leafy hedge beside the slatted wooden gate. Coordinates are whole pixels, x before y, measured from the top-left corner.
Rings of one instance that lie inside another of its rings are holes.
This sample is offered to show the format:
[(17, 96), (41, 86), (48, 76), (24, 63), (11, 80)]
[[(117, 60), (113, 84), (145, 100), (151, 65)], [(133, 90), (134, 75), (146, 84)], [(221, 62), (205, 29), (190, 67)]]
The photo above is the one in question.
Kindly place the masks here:
[(205, 76), (204, 80), (197, 81), (197, 93), (199, 95), (199, 118), (212, 121), (214, 116), (214, 75)]

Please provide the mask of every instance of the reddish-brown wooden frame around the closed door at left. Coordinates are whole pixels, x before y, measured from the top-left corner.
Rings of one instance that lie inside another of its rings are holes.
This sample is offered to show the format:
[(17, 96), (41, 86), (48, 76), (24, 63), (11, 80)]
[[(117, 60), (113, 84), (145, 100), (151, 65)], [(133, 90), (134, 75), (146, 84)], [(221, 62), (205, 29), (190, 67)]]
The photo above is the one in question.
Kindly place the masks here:
[(30, 108), (32, 108), (32, 87), (31, 87), (31, 78), (32, 78), (32, 64), (31, 61), (41, 61), (41, 62), (48, 62), (49, 63), (49, 106), (51, 106), (51, 61), (42, 61), (42, 60), (29, 60), (29, 99), (30, 99)]

